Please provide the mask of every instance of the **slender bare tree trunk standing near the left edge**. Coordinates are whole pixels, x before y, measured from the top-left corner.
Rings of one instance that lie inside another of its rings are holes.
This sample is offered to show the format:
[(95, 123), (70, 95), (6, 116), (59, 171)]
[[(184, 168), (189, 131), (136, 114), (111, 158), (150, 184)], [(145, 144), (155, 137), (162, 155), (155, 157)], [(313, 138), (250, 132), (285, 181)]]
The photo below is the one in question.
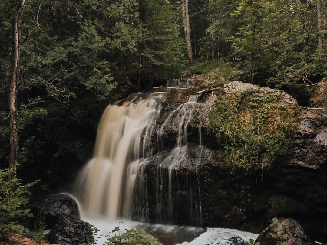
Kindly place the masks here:
[(14, 166), (16, 176), (16, 163), (18, 161), (18, 110), (17, 92), (19, 86), (19, 58), (20, 58), (20, 34), (21, 17), (25, 8), (26, 0), (17, 0), (15, 11), (12, 15), (12, 82), (9, 93), (9, 135), (10, 135), (10, 159), (9, 165)]

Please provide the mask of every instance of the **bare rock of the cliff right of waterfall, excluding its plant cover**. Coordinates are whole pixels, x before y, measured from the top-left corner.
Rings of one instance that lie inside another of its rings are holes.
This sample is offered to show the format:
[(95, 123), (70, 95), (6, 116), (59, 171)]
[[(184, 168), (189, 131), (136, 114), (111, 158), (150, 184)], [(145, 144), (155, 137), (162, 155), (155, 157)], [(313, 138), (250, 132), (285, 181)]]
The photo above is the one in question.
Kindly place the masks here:
[[(238, 93), (255, 90), (272, 93), (281, 98), (284, 105), (297, 105), (289, 94), (265, 87), (236, 81), (226, 84), (223, 89), (201, 93), (201, 106), (193, 112), (188, 125), (188, 139), (198, 143), (198, 124), (201, 121), (204, 148), (201, 158), (187, 160), (190, 166), (197, 166), (199, 178), (202, 225), (246, 229), (259, 233), (268, 220), (275, 216), (291, 217), (301, 224), (309, 237), (327, 241), (327, 117), (324, 108), (303, 107), (294, 121), (294, 141), (289, 153), (264, 172), (231, 171), (215, 153), (212, 135), (207, 133), (209, 113), (221, 93)], [(314, 93), (317, 94), (317, 93)], [(327, 97), (327, 96), (326, 96)], [(173, 101), (185, 102), (181, 96)], [(322, 97), (321, 97), (322, 98)], [(319, 104), (322, 105), (322, 104)], [(178, 120), (172, 120), (170, 131), (176, 134)], [(173, 142), (173, 141), (172, 141)], [(190, 151), (192, 152), (192, 151)], [(187, 163), (185, 163), (187, 164)], [(184, 166), (184, 165), (183, 165)], [(234, 169), (235, 170), (235, 169)], [(182, 173), (182, 172), (181, 172)], [(263, 176), (263, 179), (261, 177)], [(181, 208), (181, 207), (179, 207)]]

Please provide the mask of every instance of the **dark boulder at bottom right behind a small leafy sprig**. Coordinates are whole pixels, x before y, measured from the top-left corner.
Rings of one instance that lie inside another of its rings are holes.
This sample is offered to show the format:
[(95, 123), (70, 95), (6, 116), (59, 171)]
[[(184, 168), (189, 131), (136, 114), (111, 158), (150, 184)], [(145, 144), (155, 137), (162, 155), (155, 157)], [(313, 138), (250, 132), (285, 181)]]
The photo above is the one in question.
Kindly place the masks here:
[[(268, 227), (259, 234), (256, 242), (260, 242), (260, 245), (275, 245), (276, 238), (272, 237), (269, 233), (281, 237), (283, 234), (287, 234), (285, 238), (287, 245), (313, 245), (316, 244), (304, 232), (303, 228), (299, 222), (288, 218), (288, 219), (279, 219), (280, 223), (283, 225), (283, 228), (277, 232), (275, 225), (270, 224)], [(281, 221), (282, 220), (282, 221)]]

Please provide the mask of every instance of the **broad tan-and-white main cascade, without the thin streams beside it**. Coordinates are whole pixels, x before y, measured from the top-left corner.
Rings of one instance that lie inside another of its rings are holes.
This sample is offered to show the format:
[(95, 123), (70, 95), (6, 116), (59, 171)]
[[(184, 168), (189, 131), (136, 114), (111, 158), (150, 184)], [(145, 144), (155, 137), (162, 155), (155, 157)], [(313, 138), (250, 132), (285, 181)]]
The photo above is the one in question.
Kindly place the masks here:
[(77, 179), (77, 198), (89, 215), (129, 218), (133, 179), (152, 155), (151, 135), (162, 97), (161, 93), (134, 94), (106, 108), (94, 156)]

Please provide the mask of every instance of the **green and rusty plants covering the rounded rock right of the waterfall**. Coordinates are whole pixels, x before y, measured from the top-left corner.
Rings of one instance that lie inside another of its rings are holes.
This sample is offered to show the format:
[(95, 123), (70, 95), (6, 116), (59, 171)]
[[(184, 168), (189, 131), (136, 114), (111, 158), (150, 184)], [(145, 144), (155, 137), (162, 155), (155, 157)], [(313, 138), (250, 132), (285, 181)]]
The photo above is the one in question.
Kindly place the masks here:
[(208, 130), (218, 143), (219, 156), (232, 169), (263, 170), (286, 154), (298, 107), (284, 105), (279, 96), (243, 90), (216, 101)]

